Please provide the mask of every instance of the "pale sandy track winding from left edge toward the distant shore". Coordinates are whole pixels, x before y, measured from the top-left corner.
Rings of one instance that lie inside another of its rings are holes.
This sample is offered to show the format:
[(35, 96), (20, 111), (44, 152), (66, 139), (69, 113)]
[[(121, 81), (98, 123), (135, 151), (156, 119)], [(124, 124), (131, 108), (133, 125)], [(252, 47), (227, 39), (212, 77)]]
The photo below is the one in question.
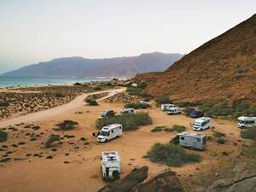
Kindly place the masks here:
[(42, 120), (45, 118), (49, 118), (49, 117), (64, 113), (67, 110), (70, 110), (73, 108), (79, 108), (79, 107), (83, 106), (84, 98), (86, 98), (87, 96), (108, 92), (109, 93), (108, 96), (104, 96), (101, 99), (97, 100), (97, 101), (102, 101), (103, 99), (107, 99), (108, 97), (114, 96), (115, 94), (118, 94), (119, 92), (123, 92), (125, 90), (126, 90), (125, 88), (121, 88), (118, 90), (102, 90), (102, 91), (97, 91), (97, 92), (93, 92), (93, 93), (82, 94), (80, 96), (77, 96), (73, 101), (68, 102), (67, 104), (58, 106), (56, 108), (50, 108), (50, 109), (40, 111), (37, 113), (28, 113), (28, 114), (20, 116), (20, 117), (2, 121), (2, 122), (0, 122), (0, 127), (20, 124), (20, 123), (26, 123), (26, 122), (32, 122), (32, 121), (36, 121), (38, 119)]

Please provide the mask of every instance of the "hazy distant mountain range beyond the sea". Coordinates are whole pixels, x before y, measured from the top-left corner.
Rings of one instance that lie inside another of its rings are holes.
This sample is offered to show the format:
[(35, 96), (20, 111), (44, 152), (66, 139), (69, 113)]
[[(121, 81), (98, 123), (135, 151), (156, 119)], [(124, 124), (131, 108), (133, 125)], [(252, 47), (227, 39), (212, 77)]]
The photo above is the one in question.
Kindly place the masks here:
[(21, 67), (15, 71), (3, 73), (2, 76), (31, 78), (133, 77), (137, 73), (164, 71), (182, 57), (183, 55), (180, 54), (160, 52), (107, 59), (66, 57)]

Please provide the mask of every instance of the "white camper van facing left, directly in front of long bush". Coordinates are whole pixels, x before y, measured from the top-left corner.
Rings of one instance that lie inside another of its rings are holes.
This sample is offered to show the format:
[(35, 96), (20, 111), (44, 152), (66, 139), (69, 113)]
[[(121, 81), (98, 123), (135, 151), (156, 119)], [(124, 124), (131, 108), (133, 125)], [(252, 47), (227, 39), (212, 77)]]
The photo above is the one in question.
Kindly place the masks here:
[(120, 124), (112, 124), (102, 127), (102, 131), (97, 137), (98, 142), (108, 142), (109, 140), (120, 137), (123, 134), (123, 126)]

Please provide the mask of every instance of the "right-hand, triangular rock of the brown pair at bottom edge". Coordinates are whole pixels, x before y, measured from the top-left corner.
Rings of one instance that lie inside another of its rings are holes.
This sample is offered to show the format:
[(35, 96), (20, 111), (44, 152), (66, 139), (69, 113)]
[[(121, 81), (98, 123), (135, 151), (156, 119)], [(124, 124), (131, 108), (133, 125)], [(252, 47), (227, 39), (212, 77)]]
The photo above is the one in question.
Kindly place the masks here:
[(184, 192), (176, 172), (166, 169), (148, 182), (138, 184), (132, 192)]

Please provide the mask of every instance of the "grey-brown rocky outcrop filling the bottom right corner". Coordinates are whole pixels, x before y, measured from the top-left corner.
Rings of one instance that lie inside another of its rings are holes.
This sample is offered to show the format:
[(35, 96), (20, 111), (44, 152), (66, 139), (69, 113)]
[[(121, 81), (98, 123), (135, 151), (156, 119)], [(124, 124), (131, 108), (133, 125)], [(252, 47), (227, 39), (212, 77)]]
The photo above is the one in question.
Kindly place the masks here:
[(245, 164), (236, 166), (230, 178), (219, 179), (208, 189), (198, 192), (256, 192), (256, 167)]

